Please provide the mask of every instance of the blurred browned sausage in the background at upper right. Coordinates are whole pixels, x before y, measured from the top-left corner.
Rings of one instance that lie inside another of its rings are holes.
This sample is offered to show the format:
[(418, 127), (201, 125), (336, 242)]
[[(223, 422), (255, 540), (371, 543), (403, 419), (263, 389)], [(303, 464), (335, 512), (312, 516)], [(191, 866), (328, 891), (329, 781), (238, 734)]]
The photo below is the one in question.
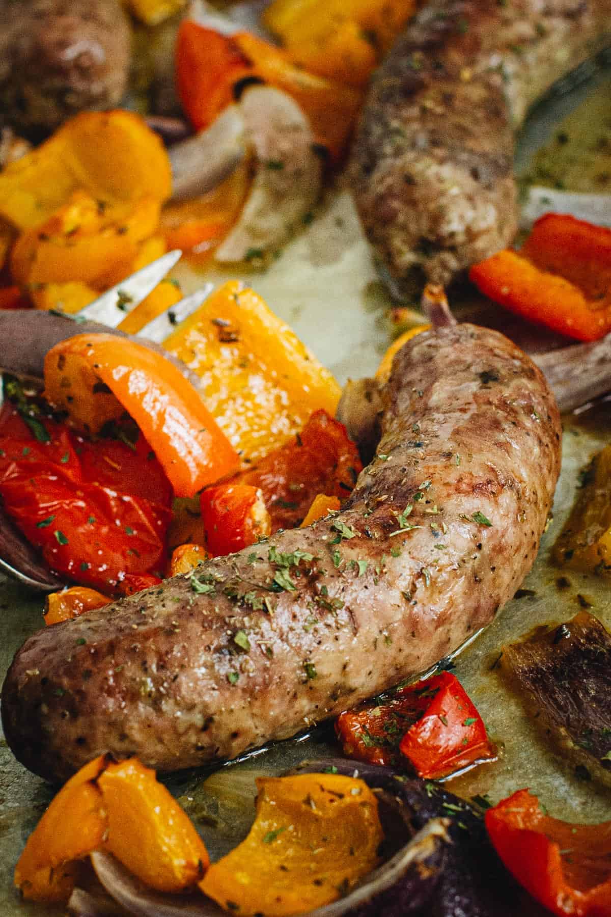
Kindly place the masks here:
[(428, 0), (376, 72), (355, 200), (399, 295), (447, 284), (518, 228), (514, 135), (552, 83), (611, 42), (611, 0)]

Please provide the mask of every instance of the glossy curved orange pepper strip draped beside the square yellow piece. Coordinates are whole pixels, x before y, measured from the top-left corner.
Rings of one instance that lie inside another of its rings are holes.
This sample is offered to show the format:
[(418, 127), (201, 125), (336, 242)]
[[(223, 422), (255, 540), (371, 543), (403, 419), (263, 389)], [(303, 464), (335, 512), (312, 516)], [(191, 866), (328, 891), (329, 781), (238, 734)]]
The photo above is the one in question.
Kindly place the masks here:
[[(70, 337), (49, 350), (44, 377), (49, 402), (77, 422), (83, 405), (95, 421), (95, 398), (112, 392), (136, 421), (176, 496), (193, 496), (239, 464), (191, 382), (168, 359), (135, 341), (107, 334)], [(78, 399), (66, 397), (71, 389)]]

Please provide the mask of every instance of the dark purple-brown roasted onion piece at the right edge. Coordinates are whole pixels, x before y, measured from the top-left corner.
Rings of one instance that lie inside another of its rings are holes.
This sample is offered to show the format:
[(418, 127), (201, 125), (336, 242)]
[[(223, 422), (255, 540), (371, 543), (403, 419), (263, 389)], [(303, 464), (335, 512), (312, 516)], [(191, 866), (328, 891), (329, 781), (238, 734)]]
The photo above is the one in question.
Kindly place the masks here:
[(592, 614), (505, 649), (529, 709), (561, 751), (611, 787), (611, 635)]

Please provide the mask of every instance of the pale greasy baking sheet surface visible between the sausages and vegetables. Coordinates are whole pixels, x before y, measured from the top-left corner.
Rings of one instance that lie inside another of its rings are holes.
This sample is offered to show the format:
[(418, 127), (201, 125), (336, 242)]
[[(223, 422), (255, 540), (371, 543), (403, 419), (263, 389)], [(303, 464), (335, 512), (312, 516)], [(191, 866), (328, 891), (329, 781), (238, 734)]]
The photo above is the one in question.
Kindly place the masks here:
[[(611, 71), (590, 70), (584, 76), (585, 82), (548, 100), (529, 120), (518, 148), (518, 170), (522, 174), (528, 172), (533, 152), (552, 137), (562, 118), (584, 100), (583, 111), (587, 116), (592, 110), (587, 99), (593, 93), (606, 97), (611, 126), (608, 92)], [(596, 164), (593, 168), (597, 168)], [(186, 265), (180, 266), (176, 275), (188, 293), (202, 282), (202, 274)], [(231, 276), (234, 275), (220, 271), (206, 272), (206, 280), (214, 282)], [(390, 302), (377, 280), (350, 195), (341, 187), (328, 195), (308, 231), (287, 246), (265, 273), (248, 275), (245, 280), (289, 322), (339, 381), (371, 374), (376, 369), (389, 343)], [(502, 660), (500, 667), (494, 665), (505, 643), (536, 624), (561, 622), (577, 613), (578, 594), (587, 597), (592, 612), (611, 629), (608, 580), (570, 572), (570, 589), (559, 591), (556, 580), (562, 571), (549, 562), (553, 540), (573, 503), (578, 471), (609, 441), (611, 409), (605, 405), (598, 409), (589, 425), (578, 425), (574, 419), (566, 421), (554, 522), (543, 537), (535, 567), (524, 583), (535, 594), (508, 602), (496, 621), (457, 659), (456, 674), (482, 713), (489, 734), (501, 747), (501, 757), (494, 765), (477, 768), (454, 780), (451, 784), (454, 791), (467, 796), (488, 794), (492, 801), (497, 801), (513, 790), (529, 787), (552, 815), (574, 821), (611, 818), (609, 790), (575, 777), (573, 766), (555, 755), (524, 712), (518, 697), (507, 690)], [(42, 626), (41, 612), (38, 596), (28, 595), (15, 583), (0, 580), (0, 678), (4, 677), (16, 648)], [(172, 776), (167, 782), (198, 825), (214, 859), (247, 832), (254, 812), (255, 777), (261, 773), (278, 773), (304, 757), (328, 751), (325, 742), (329, 739), (329, 730), (322, 728), (311, 737), (283, 743), (243, 763), (222, 768), (212, 777), (210, 772), (188, 771)], [(336, 752), (337, 748), (333, 750)], [(16, 858), (51, 796), (49, 786), (17, 764), (4, 739), (0, 739), (0, 913), (6, 917), (63, 912), (61, 908), (20, 901), (12, 887)]]

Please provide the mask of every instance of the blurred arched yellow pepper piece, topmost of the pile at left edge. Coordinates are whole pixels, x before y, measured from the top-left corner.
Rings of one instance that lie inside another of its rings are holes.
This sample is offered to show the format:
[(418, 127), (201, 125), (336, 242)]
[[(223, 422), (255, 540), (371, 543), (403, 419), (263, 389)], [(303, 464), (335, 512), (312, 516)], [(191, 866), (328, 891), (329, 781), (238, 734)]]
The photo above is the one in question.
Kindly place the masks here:
[(79, 190), (104, 204), (160, 204), (171, 193), (163, 143), (131, 112), (84, 112), (0, 173), (0, 216), (18, 229), (38, 226)]

